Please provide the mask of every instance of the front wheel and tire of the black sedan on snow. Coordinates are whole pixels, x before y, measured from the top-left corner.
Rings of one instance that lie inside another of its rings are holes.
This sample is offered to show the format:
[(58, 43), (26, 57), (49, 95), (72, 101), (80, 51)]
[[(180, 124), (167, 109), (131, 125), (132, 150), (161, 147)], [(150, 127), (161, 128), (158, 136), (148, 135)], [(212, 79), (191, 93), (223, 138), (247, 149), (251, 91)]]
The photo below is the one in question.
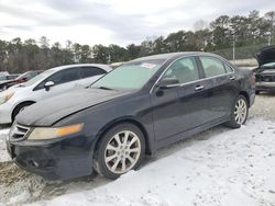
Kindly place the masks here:
[(99, 174), (114, 180), (138, 169), (144, 153), (141, 129), (133, 124), (119, 124), (101, 137), (94, 156), (94, 168)]

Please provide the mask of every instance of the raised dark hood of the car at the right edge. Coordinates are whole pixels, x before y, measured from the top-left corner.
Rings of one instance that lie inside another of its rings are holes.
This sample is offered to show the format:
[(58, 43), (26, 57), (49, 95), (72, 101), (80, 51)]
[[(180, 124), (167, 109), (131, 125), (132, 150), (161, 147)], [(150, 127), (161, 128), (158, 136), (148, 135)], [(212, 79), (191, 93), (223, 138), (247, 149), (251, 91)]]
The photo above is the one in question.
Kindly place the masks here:
[(267, 46), (258, 49), (255, 53), (255, 58), (258, 66), (263, 66), (268, 62), (275, 62), (275, 46)]

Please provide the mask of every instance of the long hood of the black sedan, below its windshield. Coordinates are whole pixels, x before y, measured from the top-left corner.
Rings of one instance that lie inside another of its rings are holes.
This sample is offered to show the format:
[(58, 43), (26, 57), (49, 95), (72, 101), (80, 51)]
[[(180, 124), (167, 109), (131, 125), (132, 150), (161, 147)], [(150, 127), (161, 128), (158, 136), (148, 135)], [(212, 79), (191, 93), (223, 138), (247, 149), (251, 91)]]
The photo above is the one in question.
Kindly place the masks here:
[(76, 89), (31, 105), (16, 116), (16, 123), (26, 126), (52, 126), (66, 116), (128, 93), (130, 91)]

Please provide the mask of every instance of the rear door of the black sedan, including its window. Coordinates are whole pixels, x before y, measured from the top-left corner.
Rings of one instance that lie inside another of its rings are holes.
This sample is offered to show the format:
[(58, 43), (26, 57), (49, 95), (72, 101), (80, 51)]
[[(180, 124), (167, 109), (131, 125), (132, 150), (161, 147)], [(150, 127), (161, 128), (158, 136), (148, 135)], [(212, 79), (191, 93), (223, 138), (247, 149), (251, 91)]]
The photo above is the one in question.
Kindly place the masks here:
[(208, 105), (208, 122), (229, 116), (235, 96), (233, 69), (212, 56), (200, 56), (199, 60), (205, 73), (205, 84), (210, 85), (205, 102)]

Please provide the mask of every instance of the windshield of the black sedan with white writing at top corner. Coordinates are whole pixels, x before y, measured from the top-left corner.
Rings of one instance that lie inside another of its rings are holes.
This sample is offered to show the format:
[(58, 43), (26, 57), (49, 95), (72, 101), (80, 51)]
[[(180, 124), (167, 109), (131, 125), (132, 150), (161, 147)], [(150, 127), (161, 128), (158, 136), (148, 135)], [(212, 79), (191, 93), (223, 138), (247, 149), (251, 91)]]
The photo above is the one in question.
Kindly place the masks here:
[(141, 89), (165, 59), (132, 61), (122, 65), (94, 83), (92, 88)]

